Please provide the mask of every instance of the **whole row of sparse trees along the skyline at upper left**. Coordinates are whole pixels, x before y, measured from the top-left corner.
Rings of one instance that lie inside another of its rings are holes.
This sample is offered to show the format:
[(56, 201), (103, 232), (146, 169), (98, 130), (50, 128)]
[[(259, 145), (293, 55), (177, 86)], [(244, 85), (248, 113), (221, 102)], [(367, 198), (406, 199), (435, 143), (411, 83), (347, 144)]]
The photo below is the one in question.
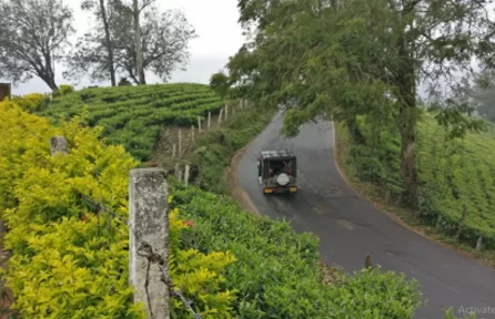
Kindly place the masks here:
[[(55, 91), (55, 64), (63, 76), (111, 85), (145, 84), (145, 71), (164, 82), (189, 61), (196, 38), (185, 17), (160, 12), (156, 0), (82, 0), (92, 23), (75, 43), (73, 12), (61, 0), (0, 0), (0, 78), (14, 84), (38, 76)], [(117, 76), (120, 76), (118, 83)], [(131, 82), (129, 82), (131, 81)]]

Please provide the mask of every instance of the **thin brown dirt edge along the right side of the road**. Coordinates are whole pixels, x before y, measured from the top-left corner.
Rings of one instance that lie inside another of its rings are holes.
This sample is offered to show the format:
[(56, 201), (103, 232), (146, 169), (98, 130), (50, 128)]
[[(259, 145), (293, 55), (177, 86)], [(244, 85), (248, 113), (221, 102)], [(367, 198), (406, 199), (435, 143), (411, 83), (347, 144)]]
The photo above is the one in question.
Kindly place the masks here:
[(332, 140), (333, 140), (333, 152), (332, 152), (332, 157), (333, 157), (333, 162), (335, 164), (335, 167), (339, 172), (339, 175), (341, 175), (342, 181), (344, 181), (345, 185), (347, 185), (347, 187), (350, 187), (354, 194), (357, 195), (357, 197), (360, 197), (361, 199), (367, 202), (370, 205), (373, 206), (373, 208), (375, 208), (377, 212), (384, 214), (385, 216), (387, 216), (388, 218), (391, 218), (392, 220), (394, 220), (395, 223), (397, 223), (398, 225), (401, 225), (402, 227), (404, 227), (405, 229), (415, 233), (416, 235), (423, 237), (424, 239), (427, 239), (428, 241), (431, 241), (432, 244), (437, 244), (446, 249), (449, 249), (453, 253), (456, 253), (457, 255), (462, 255), (463, 257), (468, 257), (471, 259), (474, 259), (478, 263), (485, 264), (486, 266), (491, 267), (491, 268), (495, 268), (495, 265), (493, 265), (491, 261), (485, 260), (484, 258), (481, 257), (476, 257), (473, 253), (471, 251), (466, 251), (464, 249), (457, 248), (453, 245), (449, 245), (445, 241), (438, 240), (436, 238), (434, 238), (431, 235), (425, 234), (423, 230), (417, 229), (417, 227), (410, 225), (408, 223), (404, 222), (396, 213), (390, 212), (388, 209), (384, 208), (382, 205), (371, 200), (367, 196), (363, 195), (361, 192), (357, 192), (357, 189), (355, 189), (352, 186), (352, 183), (348, 181), (347, 175), (345, 175), (345, 173), (343, 172), (343, 169), (341, 168), (341, 165), (339, 163), (339, 158), (337, 158), (337, 137), (336, 137), (336, 130), (335, 130), (335, 123), (333, 121), (331, 121), (332, 123)]

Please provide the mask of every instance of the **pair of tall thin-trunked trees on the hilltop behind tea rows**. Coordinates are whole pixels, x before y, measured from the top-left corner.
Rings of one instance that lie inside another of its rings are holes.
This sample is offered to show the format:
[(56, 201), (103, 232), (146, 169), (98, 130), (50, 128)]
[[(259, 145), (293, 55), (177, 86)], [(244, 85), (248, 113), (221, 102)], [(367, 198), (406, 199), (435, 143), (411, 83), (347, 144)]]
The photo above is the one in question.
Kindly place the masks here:
[[(194, 29), (188, 23), (181, 12), (165, 11), (160, 13), (151, 2), (140, 2), (140, 33), (143, 56), (143, 72), (137, 72), (137, 56), (134, 30), (129, 28), (133, 21), (132, 3), (120, 0), (108, 2), (108, 19), (113, 51), (115, 73), (127, 76), (135, 84), (145, 83), (144, 71), (151, 71), (163, 81), (176, 68), (189, 60), (189, 42), (194, 39)], [(144, 6), (147, 4), (147, 6)], [(144, 7), (142, 7), (144, 6)], [(108, 79), (105, 33), (100, 24), (85, 33), (78, 42), (74, 52), (69, 55), (68, 76), (74, 79), (89, 74), (92, 80)]]

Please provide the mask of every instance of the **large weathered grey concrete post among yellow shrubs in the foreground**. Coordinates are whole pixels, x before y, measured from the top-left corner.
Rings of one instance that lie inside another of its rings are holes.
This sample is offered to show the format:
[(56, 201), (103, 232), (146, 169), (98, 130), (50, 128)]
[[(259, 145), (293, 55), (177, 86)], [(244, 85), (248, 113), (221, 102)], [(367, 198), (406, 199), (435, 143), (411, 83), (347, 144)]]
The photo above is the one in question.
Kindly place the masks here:
[(148, 318), (170, 319), (169, 189), (165, 171), (137, 168), (129, 174), (129, 281), (134, 303)]

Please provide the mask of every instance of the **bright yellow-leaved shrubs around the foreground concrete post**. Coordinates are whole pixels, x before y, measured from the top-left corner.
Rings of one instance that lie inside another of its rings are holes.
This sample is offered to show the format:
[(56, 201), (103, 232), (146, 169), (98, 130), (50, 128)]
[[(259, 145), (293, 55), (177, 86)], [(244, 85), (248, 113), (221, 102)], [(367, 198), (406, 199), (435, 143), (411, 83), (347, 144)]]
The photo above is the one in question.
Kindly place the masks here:
[[(129, 171), (139, 163), (122, 146), (99, 140), (80, 119), (52, 126), (17, 102), (0, 102), (0, 214), (12, 251), (3, 277), (24, 318), (144, 318), (128, 284), (129, 229), (84, 198), (128, 218)], [(50, 137), (68, 140), (67, 155), (50, 154)], [(230, 253), (183, 249), (190, 223), (170, 215), (172, 281), (204, 318), (230, 318), (235, 291), (223, 291)], [(165, 289), (165, 286), (164, 286)], [(171, 300), (174, 318), (191, 316)]]

